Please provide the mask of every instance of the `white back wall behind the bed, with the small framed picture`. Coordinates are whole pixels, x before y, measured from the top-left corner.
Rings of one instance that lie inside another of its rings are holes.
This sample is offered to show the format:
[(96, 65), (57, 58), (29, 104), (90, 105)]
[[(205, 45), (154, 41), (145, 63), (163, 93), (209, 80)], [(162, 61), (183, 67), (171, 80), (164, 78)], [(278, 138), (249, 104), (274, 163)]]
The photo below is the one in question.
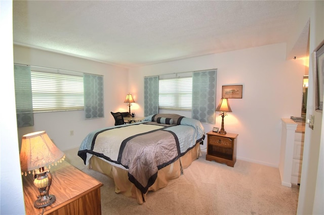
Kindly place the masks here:
[[(224, 118), (224, 129), (238, 134), (237, 158), (278, 167), (280, 119), (301, 115), (305, 72), (301, 60), (286, 61), (284, 43), (130, 69), (131, 88), (138, 90), (138, 114), (144, 113), (144, 76), (212, 68), (218, 69), (217, 104), (222, 85), (243, 85), (242, 99), (229, 99), (232, 113)], [(204, 124), (206, 132), (214, 126), (221, 127), (220, 116), (215, 125)]]

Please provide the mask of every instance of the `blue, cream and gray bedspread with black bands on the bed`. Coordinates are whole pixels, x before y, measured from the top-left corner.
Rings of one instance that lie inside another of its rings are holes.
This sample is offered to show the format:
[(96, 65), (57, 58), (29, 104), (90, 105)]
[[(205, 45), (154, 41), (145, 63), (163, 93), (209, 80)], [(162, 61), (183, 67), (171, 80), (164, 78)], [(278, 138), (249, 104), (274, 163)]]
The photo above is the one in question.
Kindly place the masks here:
[(89, 164), (96, 155), (128, 170), (129, 180), (143, 193), (155, 182), (157, 171), (175, 162), (205, 138), (203, 125), (181, 117), (173, 125), (143, 122), (108, 127), (91, 132), (79, 147), (78, 155)]

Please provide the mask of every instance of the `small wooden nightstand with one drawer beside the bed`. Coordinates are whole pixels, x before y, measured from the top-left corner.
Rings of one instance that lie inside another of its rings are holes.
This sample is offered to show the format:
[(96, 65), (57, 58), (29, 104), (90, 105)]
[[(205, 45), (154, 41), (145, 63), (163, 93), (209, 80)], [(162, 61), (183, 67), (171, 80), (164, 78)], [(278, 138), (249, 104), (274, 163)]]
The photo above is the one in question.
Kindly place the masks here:
[(234, 167), (236, 162), (236, 141), (238, 134), (207, 133), (207, 160), (215, 160)]

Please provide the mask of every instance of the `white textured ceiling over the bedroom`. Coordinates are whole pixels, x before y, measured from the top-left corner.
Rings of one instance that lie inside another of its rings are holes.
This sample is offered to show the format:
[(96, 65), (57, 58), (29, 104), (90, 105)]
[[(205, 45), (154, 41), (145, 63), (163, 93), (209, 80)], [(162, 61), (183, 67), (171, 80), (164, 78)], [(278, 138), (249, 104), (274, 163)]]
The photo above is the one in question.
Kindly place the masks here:
[(14, 1), (14, 44), (132, 67), (287, 42), (298, 4)]

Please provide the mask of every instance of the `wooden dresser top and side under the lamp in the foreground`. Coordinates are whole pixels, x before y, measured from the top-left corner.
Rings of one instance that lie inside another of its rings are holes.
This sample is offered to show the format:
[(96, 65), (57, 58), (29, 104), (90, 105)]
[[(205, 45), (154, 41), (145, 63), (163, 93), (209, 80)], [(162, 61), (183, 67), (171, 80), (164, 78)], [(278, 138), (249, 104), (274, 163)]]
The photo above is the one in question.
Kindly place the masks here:
[[(96, 179), (76, 169), (67, 162), (51, 167), (52, 185), (49, 194), (56, 201), (44, 209), (44, 214), (101, 214), (100, 187)], [(42, 214), (43, 208), (35, 208), (39, 195), (33, 184), (33, 175), (22, 176), (26, 214)]]

